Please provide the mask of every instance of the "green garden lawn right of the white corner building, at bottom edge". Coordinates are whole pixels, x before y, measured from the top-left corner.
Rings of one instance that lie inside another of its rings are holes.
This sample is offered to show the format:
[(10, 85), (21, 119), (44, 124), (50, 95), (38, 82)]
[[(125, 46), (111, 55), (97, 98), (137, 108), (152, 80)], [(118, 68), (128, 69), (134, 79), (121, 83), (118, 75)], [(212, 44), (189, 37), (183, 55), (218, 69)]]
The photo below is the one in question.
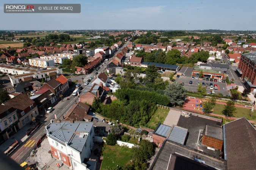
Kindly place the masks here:
[(127, 164), (132, 156), (132, 149), (121, 146), (109, 146), (107, 145), (103, 151), (103, 161), (101, 169), (106, 167), (123, 167)]

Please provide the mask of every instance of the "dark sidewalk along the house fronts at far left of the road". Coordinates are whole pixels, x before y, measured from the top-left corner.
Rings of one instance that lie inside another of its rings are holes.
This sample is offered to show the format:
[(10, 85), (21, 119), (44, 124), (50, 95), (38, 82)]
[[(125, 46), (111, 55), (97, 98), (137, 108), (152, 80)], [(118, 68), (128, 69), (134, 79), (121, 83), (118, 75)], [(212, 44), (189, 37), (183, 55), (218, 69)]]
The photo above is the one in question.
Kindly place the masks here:
[(26, 134), (26, 131), (31, 127), (32, 125), (27, 124), (23, 128), (21, 128), (19, 131), (17, 131), (13, 136), (11, 136), (7, 141), (3, 142), (0, 145), (0, 151), (6, 150), (15, 140), (18, 142), (24, 142), (28, 136)]

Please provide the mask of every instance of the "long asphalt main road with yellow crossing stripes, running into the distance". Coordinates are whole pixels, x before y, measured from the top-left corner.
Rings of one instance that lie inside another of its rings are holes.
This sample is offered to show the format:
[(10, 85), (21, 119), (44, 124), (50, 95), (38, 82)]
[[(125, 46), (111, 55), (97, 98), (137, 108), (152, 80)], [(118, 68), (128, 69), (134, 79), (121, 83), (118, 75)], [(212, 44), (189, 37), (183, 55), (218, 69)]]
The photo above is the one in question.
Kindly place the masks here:
[[(123, 49), (125, 46), (127, 46), (127, 43), (121, 49)], [(121, 49), (119, 49), (118, 52), (120, 52)], [(110, 59), (112, 57), (110, 57)], [(103, 66), (101, 66), (101, 68), (97, 71), (98, 73), (105, 71), (105, 69), (107, 68), (107, 64), (110, 62), (110, 59), (108, 61), (105, 61), (105, 64), (103, 64)], [(82, 87), (85, 88), (86, 86), (84, 85), (84, 82), (86, 82), (86, 80), (88, 80), (90, 77), (94, 77), (94, 76), (96, 76), (95, 71), (93, 71), (88, 75), (74, 76), (74, 77), (71, 77), (70, 79), (78, 80), (78, 83), (80, 83)], [(70, 87), (70, 89), (71, 88), (72, 87)], [(68, 91), (70, 91), (70, 89)], [(75, 102), (79, 100), (78, 98), (79, 96), (72, 96), (72, 92), (71, 92), (70, 95), (68, 97), (64, 97), (63, 100), (59, 99), (58, 103), (53, 106), (52, 113), (46, 115), (45, 117), (40, 118), (40, 122), (42, 122), (40, 127), (33, 134), (28, 136), (28, 138), (20, 145), (20, 147), (17, 150), (15, 150), (10, 155), (10, 157), (14, 161), (16, 161), (18, 164), (21, 164), (22, 162), (24, 162), (25, 159), (30, 155), (31, 151), (33, 149), (36, 149), (36, 142), (39, 141), (41, 136), (45, 133), (44, 131), (45, 126), (50, 123), (51, 119), (55, 119), (55, 114), (57, 116), (57, 119), (59, 119), (61, 116), (63, 116), (68, 112), (68, 110), (72, 107), (72, 105), (75, 104)]]

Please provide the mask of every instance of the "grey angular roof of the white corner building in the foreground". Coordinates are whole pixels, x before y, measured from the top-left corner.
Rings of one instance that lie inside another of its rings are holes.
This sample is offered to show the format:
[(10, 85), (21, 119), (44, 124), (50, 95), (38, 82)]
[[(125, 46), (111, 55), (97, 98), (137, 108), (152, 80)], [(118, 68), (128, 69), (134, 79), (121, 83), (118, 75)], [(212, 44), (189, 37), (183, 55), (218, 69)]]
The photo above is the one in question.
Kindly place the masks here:
[[(88, 135), (86, 136), (85, 133), (90, 135), (92, 128), (93, 122), (53, 122), (47, 126), (50, 135), (57, 138), (63, 144), (68, 142), (69, 146), (80, 152), (83, 150), (88, 138)], [(75, 134), (75, 132), (78, 133)]]

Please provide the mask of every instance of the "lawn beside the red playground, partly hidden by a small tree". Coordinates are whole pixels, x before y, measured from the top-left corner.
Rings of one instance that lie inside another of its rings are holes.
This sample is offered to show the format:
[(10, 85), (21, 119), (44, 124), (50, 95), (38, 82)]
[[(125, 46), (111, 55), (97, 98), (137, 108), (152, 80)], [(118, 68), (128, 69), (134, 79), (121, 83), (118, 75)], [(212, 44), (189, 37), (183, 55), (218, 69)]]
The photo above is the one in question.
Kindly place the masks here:
[[(224, 109), (225, 105), (221, 104), (216, 104), (214, 107), (214, 112), (215, 114), (220, 114), (221, 111)], [(234, 117), (240, 118), (240, 117), (246, 117), (248, 120), (256, 120), (256, 111), (253, 112), (253, 116), (250, 117), (250, 108), (241, 108), (241, 107), (236, 107), (236, 113), (234, 114)]]

